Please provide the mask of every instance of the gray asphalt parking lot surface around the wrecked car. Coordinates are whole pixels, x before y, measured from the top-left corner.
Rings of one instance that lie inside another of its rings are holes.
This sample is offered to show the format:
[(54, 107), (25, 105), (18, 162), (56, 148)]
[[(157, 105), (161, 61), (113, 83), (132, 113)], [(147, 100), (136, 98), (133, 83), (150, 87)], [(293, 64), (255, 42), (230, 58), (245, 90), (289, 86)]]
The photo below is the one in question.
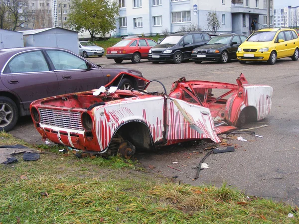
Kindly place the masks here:
[[(235, 83), (241, 72), (250, 84), (272, 86), (274, 96), (270, 115), (259, 123), (245, 126), (249, 128), (267, 124), (267, 127), (254, 129), (263, 138), (241, 134), (248, 141), (228, 140), (236, 146), (236, 151), (210, 155), (205, 161), (210, 168), (200, 171), (197, 180), (194, 180), (196, 170), (192, 167), (198, 165), (205, 155), (206, 152), (202, 153), (204, 146), (196, 143), (191, 146), (176, 145), (161, 149), (163, 151), (140, 153), (136, 157), (145, 168), (169, 177), (177, 176), (174, 178), (176, 181), (216, 186), (226, 182), (249, 195), (270, 197), (299, 206), (299, 61), (286, 58), (278, 60), (275, 65), (268, 65), (240, 64), (237, 61), (195, 64), (191, 60), (182, 64), (152, 64), (147, 60), (139, 64), (132, 64), (131, 61), (116, 64), (105, 57), (89, 60), (103, 66), (140, 70), (145, 78), (161, 81), (167, 91), (172, 82), (183, 76), (187, 80)], [(150, 88), (162, 91), (159, 84), (152, 83)], [(20, 118), (16, 128), (9, 133), (30, 143), (41, 142), (30, 117)]]

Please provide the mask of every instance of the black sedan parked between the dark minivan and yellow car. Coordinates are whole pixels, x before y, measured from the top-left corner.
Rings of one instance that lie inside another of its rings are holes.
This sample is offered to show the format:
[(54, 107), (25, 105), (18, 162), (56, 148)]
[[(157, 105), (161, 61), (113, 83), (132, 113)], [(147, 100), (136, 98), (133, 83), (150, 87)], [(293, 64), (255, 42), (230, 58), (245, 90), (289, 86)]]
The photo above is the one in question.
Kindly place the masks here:
[(242, 34), (223, 33), (213, 37), (207, 44), (193, 49), (191, 57), (195, 63), (219, 61), (227, 63), (236, 59), (238, 47), (247, 39)]

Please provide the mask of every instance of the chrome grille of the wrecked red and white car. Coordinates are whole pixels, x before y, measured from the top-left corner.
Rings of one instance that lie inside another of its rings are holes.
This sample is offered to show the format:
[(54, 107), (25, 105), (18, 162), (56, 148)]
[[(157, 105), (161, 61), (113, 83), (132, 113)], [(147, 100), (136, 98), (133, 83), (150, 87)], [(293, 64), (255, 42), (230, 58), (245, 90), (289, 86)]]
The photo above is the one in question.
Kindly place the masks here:
[(40, 123), (56, 127), (84, 130), (81, 123), (81, 112), (38, 109)]

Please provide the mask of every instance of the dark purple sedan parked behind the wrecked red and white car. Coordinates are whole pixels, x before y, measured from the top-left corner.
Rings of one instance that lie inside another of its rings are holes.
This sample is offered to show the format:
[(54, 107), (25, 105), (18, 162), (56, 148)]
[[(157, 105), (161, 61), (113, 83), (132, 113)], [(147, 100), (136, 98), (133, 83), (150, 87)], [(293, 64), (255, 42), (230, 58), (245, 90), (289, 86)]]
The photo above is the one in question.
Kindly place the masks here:
[(9, 131), (18, 116), (29, 115), (32, 101), (82, 92), (111, 83), (120, 89), (141, 89), (145, 83), (122, 72), (143, 77), (136, 70), (103, 68), (60, 48), (0, 50), (0, 130)]

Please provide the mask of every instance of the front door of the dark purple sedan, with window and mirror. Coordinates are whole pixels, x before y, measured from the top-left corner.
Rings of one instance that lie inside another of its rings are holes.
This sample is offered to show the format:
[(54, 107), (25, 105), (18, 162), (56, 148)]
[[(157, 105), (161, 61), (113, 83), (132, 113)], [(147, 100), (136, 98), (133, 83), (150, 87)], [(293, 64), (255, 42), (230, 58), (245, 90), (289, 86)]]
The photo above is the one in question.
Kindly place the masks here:
[(57, 75), (59, 94), (88, 91), (104, 86), (108, 77), (98, 67), (87, 69), (86, 60), (62, 50), (45, 50)]

